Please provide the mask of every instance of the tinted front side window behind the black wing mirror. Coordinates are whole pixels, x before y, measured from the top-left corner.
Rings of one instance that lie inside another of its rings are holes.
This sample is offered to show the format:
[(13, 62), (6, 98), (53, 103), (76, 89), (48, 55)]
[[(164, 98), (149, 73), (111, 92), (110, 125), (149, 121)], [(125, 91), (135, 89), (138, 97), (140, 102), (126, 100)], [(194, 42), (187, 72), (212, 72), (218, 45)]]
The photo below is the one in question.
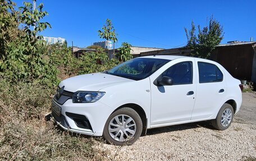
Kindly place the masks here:
[(192, 84), (193, 81), (193, 70), (192, 62), (181, 62), (177, 63), (166, 71), (164, 71), (161, 77), (170, 77), (173, 81), (173, 85), (178, 84)]

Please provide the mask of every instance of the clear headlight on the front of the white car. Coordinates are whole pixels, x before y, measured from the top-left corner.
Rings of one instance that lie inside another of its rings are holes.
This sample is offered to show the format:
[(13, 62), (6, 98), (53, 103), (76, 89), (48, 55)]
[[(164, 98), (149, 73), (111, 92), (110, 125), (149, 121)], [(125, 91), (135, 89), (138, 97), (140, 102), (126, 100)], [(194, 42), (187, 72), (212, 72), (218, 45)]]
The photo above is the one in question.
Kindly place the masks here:
[(104, 92), (97, 91), (77, 91), (73, 95), (73, 103), (93, 103), (97, 102), (102, 96)]

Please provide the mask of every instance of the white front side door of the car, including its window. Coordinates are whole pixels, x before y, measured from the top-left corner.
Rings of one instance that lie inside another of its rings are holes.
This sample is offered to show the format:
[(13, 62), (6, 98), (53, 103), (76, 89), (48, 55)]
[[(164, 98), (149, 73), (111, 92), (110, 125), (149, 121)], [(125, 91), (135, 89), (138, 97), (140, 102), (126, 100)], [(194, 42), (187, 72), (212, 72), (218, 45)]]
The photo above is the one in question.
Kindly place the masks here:
[(151, 125), (164, 126), (172, 122), (189, 121), (194, 108), (196, 86), (194, 61), (176, 63), (157, 79), (171, 77), (173, 85), (156, 86), (151, 80)]

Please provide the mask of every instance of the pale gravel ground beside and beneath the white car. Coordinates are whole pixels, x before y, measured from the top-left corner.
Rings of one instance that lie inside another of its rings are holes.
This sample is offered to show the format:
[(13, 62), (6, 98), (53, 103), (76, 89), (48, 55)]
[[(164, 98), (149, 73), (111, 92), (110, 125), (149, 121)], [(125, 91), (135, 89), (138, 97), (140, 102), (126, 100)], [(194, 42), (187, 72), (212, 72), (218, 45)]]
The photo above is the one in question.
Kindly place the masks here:
[[(256, 94), (244, 93), (232, 125), (217, 131), (208, 121), (148, 130), (131, 146), (99, 143), (109, 160), (256, 160)], [(248, 116), (249, 113), (249, 116)]]

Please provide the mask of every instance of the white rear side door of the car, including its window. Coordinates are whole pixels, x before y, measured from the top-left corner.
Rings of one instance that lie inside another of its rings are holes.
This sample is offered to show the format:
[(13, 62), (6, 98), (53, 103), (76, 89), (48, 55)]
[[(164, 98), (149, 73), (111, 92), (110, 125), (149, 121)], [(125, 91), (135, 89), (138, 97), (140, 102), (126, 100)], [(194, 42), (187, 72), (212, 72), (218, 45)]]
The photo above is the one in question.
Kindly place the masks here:
[(226, 95), (223, 71), (213, 63), (196, 61), (196, 100), (191, 119), (209, 118)]

